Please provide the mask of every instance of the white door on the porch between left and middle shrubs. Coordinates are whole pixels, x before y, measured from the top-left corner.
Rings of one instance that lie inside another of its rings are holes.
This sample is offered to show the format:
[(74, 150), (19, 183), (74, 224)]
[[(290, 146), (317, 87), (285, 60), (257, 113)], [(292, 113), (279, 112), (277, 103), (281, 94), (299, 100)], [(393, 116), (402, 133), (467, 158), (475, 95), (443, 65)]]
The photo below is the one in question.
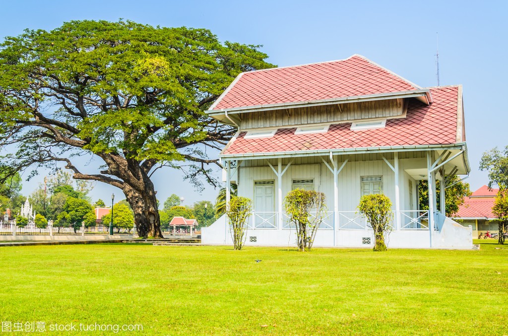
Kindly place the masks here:
[(273, 181), (254, 182), (255, 227), (277, 227)]

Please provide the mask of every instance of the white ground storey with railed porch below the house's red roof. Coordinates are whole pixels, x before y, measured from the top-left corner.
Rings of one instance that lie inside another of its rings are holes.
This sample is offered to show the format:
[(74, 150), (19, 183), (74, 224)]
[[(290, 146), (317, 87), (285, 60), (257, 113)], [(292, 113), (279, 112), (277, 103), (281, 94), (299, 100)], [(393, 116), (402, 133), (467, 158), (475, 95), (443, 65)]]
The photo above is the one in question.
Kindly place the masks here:
[[(227, 185), (236, 183), (238, 195), (253, 201), (246, 245), (295, 245), (296, 230), (283, 211), (283, 198), (292, 189), (302, 188), (321, 191), (327, 198), (328, 209), (319, 219), (314, 246), (373, 246), (373, 230), (357, 206), (364, 194), (384, 193), (392, 200), (388, 247), (471, 248), (472, 228), (454, 222), (438, 210), (444, 209), (446, 191), (440, 193), (439, 199), (435, 197), (436, 180), (449, 187), (454, 175), (466, 171), (463, 154), (463, 148), (455, 147), (256, 157), (223, 163)], [(428, 181), (429, 202), (425, 209), (420, 209), (419, 204), (421, 180)], [(230, 197), (227, 193), (227, 199)], [(226, 221), (224, 216), (203, 228), (203, 243), (231, 244)]]

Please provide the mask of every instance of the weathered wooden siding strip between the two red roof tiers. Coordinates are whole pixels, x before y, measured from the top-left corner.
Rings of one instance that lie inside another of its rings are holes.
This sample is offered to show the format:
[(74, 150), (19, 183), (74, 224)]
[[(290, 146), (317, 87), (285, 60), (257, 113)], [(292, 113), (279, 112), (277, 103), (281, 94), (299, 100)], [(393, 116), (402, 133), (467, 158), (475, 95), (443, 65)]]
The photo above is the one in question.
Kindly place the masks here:
[(251, 112), (239, 115), (240, 129), (291, 127), (306, 124), (343, 123), (373, 118), (403, 117), (403, 99), (374, 100), (297, 109)]

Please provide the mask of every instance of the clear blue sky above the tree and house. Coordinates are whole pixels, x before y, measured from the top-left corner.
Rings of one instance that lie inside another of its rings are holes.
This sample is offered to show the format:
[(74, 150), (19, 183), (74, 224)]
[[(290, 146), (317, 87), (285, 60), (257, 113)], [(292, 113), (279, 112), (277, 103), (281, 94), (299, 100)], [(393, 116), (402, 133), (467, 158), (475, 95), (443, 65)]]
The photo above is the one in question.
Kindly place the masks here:
[[(441, 85), (462, 84), (471, 190), (487, 184), (478, 165), (484, 151), (508, 145), (504, 98), (508, 47), (508, 1), (13, 1), (3, 2), (0, 38), (25, 28), (52, 29), (69, 20), (130, 19), (160, 26), (207, 28), (221, 41), (261, 44), (279, 66), (342, 59), (361, 54), (420, 86), (435, 86), (436, 32)], [(44, 172), (24, 182), (28, 195)], [(168, 181), (171, 181), (169, 183)], [(157, 196), (171, 193), (191, 205), (212, 200), (171, 170), (155, 174)], [(97, 184), (93, 199), (121, 191)]]

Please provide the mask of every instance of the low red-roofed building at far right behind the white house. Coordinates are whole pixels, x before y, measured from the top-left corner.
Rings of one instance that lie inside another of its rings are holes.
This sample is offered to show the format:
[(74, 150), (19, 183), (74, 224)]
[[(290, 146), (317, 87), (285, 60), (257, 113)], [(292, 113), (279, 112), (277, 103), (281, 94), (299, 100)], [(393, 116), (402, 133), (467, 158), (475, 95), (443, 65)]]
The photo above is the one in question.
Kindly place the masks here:
[(496, 188), (482, 186), (464, 199), (464, 204), (459, 206), (454, 218), (464, 226), (471, 225), (474, 236), (487, 231), (499, 231), (497, 217), (492, 213), (498, 191)]

